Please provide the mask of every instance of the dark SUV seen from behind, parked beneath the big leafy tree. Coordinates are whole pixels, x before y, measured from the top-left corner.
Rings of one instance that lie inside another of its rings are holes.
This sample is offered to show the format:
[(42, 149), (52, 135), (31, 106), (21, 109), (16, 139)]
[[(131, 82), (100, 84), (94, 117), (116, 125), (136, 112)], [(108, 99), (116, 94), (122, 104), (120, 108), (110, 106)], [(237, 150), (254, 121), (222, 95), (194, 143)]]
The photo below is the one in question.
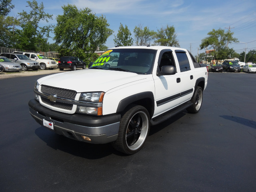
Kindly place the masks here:
[(74, 71), (76, 68), (86, 69), (86, 63), (78, 57), (61, 57), (59, 60), (59, 68), (61, 71), (64, 69), (72, 69)]

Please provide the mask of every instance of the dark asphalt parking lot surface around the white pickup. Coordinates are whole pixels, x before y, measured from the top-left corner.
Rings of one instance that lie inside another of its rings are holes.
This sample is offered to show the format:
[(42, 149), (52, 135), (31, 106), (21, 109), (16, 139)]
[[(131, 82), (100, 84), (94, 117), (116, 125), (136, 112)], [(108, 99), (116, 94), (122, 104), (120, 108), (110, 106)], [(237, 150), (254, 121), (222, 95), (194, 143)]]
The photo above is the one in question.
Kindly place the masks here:
[(37, 124), (28, 101), (42, 76), (0, 80), (1, 191), (256, 191), (256, 74), (209, 73), (200, 112), (152, 126), (131, 156)]

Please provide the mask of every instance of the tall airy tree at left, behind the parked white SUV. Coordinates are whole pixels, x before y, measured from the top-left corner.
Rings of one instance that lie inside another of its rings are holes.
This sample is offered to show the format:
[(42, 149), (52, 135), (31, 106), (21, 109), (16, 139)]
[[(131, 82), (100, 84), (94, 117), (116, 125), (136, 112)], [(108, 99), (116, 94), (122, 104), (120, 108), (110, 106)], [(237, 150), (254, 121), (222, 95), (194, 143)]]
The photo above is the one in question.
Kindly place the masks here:
[(23, 10), (18, 13), (21, 29), (17, 30), (18, 42), (16, 48), (48, 51), (49, 44), (47, 41), (50, 38), (49, 34), (52, 26), (39, 26), (39, 24), (42, 21), (49, 22), (48, 20), (52, 19), (52, 15), (44, 12), (43, 3), (38, 5), (36, 0), (27, 1), (27, 3), (27, 7), (31, 9), (30, 12), (27, 13)]

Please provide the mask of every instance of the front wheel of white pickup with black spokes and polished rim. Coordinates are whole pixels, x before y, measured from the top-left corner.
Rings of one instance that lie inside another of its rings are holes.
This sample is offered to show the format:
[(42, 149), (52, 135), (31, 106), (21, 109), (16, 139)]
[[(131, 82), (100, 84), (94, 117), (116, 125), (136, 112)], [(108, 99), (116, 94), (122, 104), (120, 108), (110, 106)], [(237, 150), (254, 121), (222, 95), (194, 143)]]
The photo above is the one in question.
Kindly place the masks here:
[(146, 108), (140, 105), (130, 106), (120, 120), (118, 138), (112, 146), (128, 155), (138, 152), (148, 137), (149, 120)]

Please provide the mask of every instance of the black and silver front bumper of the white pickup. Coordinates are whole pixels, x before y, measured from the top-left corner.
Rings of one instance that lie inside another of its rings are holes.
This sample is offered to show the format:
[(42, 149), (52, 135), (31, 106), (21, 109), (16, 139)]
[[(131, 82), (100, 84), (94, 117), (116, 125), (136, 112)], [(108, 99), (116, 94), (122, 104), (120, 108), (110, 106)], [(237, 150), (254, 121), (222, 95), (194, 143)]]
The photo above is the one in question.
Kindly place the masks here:
[[(53, 122), (54, 132), (78, 141), (104, 144), (117, 139), (120, 114), (108, 116), (88, 116), (83, 114), (65, 114), (50, 110), (35, 99), (28, 102), (31, 116), (40, 125), (43, 119)], [(49, 128), (50, 129), (50, 128)], [(82, 136), (90, 138), (85, 140)]]

